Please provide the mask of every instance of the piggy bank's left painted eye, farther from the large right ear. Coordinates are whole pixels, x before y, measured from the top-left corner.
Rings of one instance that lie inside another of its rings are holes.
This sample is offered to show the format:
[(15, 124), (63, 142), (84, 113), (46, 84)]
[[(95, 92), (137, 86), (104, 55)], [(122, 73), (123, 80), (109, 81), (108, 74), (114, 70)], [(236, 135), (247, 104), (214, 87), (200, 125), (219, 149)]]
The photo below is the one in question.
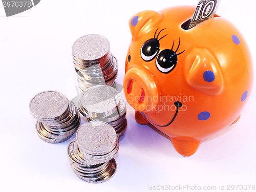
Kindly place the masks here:
[(150, 61), (159, 51), (159, 41), (156, 38), (148, 39), (141, 47), (140, 54), (143, 60)]

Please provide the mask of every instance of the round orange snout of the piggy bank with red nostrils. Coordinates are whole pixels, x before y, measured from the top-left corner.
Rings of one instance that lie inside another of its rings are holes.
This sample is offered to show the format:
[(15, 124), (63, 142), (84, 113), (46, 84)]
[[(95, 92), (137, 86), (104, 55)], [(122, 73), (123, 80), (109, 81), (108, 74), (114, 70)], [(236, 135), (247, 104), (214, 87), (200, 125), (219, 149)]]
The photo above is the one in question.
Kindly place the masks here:
[(137, 111), (153, 111), (158, 103), (158, 90), (154, 77), (140, 68), (129, 69), (123, 80), (126, 100)]

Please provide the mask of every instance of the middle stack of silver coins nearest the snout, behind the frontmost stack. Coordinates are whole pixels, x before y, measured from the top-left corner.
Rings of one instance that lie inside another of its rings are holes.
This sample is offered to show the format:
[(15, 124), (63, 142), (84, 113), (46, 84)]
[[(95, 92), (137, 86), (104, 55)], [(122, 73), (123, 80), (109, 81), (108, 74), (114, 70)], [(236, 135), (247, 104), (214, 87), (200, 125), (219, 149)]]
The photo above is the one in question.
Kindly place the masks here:
[(103, 85), (89, 88), (82, 94), (78, 109), (87, 121), (109, 123), (119, 139), (123, 136), (127, 127), (126, 103), (114, 88)]

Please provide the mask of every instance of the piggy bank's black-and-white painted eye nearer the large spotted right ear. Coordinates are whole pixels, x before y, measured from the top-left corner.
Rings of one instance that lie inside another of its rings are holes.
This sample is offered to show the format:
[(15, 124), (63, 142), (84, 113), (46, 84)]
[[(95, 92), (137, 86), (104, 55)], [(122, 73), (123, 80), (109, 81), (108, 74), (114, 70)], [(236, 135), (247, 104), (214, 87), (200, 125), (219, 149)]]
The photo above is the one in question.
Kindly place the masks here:
[(162, 73), (169, 73), (177, 64), (177, 55), (173, 50), (165, 49), (159, 53), (156, 59), (157, 69)]

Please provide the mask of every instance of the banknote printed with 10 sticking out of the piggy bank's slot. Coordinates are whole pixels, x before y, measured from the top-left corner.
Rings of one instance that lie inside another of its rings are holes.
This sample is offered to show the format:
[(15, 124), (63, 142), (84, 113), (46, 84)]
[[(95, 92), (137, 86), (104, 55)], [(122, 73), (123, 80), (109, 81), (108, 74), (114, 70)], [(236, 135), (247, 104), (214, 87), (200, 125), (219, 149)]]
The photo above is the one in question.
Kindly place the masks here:
[(206, 19), (214, 17), (221, 0), (201, 0), (187, 29), (191, 29)]

